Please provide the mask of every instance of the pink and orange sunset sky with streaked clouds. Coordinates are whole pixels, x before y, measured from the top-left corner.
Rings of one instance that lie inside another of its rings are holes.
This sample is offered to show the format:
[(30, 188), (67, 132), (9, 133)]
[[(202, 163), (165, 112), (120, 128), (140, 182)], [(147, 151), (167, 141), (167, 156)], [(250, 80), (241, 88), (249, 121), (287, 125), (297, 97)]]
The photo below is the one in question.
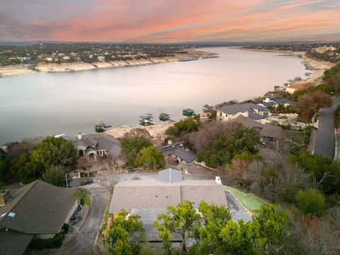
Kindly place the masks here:
[(340, 40), (340, 1), (0, 0), (0, 40)]

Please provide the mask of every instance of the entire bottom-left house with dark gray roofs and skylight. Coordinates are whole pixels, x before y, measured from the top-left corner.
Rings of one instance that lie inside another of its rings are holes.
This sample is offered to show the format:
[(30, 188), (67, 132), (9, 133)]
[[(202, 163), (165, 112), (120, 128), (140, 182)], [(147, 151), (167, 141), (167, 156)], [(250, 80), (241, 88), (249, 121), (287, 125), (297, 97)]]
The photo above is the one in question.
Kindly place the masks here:
[(19, 188), (0, 206), (0, 254), (23, 254), (33, 239), (54, 237), (78, 206), (72, 188), (40, 180)]

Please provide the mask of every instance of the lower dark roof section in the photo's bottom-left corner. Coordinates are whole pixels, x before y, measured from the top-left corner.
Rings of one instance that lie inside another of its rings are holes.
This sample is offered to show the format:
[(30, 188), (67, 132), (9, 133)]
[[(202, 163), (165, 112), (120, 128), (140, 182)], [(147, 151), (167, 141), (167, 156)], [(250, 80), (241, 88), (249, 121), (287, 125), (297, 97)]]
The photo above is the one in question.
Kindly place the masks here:
[(26, 250), (34, 234), (23, 234), (0, 229), (0, 254), (1, 255), (21, 255)]

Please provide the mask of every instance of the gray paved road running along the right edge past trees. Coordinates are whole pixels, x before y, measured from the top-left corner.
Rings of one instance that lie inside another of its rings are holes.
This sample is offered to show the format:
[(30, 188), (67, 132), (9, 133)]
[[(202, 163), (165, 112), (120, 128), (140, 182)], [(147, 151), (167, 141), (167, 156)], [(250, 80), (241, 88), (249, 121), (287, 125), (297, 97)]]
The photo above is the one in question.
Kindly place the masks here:
[(314, 153), (334, 159), (334, 111), (339, 105), (340, 96), (333, 98), (330, 108), (323, 108), (320, 111), (319, 127), (317, 129), (317, 142)]

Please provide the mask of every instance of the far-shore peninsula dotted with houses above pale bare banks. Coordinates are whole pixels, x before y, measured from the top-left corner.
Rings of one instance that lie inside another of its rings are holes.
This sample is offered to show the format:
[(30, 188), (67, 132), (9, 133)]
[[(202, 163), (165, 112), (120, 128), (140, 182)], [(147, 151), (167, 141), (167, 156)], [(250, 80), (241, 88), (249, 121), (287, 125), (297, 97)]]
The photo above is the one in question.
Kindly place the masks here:
[(75, 72), (211, 57), (217, 55), (185, 45), (44, 44), (42, 42), (26, 46), (0, 46), (0, 74), (5, 77), (35, 72)]

